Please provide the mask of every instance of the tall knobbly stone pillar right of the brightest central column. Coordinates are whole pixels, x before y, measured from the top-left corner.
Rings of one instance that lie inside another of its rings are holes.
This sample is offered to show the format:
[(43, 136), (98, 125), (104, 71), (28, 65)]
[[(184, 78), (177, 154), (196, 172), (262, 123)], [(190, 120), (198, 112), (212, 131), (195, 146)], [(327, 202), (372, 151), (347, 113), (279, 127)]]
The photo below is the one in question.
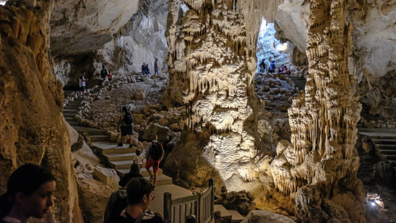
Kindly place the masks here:
[[(353, 147), (361, 105), (347, 68), (352, 28), (345, 10), (345, 0), (311, 1), (310, 75), (305, 94), (289, 109), (292, 143), (281, 141), (271, 164), (275, 186), (285, 195), (296, 193), (297, 216), (304, 221), (364, 222), (364, 193), (356, 178), (359, 157)], [(336, 216), (337, 209), (345, 210)]]

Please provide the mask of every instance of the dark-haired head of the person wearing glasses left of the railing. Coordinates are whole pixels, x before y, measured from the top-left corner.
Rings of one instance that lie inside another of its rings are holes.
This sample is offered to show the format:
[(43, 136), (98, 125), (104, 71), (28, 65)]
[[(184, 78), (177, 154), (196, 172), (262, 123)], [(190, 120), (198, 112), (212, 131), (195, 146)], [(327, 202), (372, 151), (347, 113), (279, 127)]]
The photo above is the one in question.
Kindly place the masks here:
[(128, 204), (140, 205), (147, 210), (154, 199), (154, 186), (145, 178), (133, 178), (127, 184)]

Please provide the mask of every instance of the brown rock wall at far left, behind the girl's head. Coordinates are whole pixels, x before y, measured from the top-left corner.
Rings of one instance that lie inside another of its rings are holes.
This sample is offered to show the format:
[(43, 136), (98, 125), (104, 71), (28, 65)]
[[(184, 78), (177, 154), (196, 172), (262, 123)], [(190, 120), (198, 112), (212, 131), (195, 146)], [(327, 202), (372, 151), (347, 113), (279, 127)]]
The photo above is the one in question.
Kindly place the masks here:
[(33, 6), (0, 6), (0, 188), (18, 166), (41, 164), (57, 179), (60, 201), (46, 222), (82, 222), (63, 93), (49, 62), (53, 2)]

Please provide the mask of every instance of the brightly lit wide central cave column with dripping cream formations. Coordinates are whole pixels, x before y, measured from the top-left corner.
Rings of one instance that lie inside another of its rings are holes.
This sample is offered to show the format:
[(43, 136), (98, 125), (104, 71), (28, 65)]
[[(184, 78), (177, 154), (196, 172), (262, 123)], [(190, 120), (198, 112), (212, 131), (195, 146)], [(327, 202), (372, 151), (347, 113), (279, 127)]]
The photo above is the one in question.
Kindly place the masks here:
[[(170, 89), (175, 90), (168, 89), (165, 100), (186, 105), (189, 130), (208, 133), (208, 143), (198, 148), (198, 154), (229, 190), (260, 190), (264, 162), (258, 148), (271, 150), (272, 134), (264, 104), (254, 97), (253, 88), (262, 4), (185, 2), (182, 7), (180, 0), (169, 3), (168, 66)], [(179, 19), (183, 8), (185, 15)], [(172, 162), (172, 153), (168, 159)], [(175, 161), (181, 166), (184, 162), (188, 161)]]

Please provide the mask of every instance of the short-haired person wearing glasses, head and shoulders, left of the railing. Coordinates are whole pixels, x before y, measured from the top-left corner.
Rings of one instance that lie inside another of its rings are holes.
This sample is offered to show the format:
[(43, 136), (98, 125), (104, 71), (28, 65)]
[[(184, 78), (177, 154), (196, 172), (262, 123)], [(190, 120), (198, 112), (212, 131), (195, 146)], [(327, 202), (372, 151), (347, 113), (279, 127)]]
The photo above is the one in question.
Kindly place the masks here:
[(110, 217), (107, 223), (163, 223), (152, 213), (151, 201), (154, 199), (153, 185), (145, 178), (133, 178), (127, 184), (128, 206), (120, 215)]

